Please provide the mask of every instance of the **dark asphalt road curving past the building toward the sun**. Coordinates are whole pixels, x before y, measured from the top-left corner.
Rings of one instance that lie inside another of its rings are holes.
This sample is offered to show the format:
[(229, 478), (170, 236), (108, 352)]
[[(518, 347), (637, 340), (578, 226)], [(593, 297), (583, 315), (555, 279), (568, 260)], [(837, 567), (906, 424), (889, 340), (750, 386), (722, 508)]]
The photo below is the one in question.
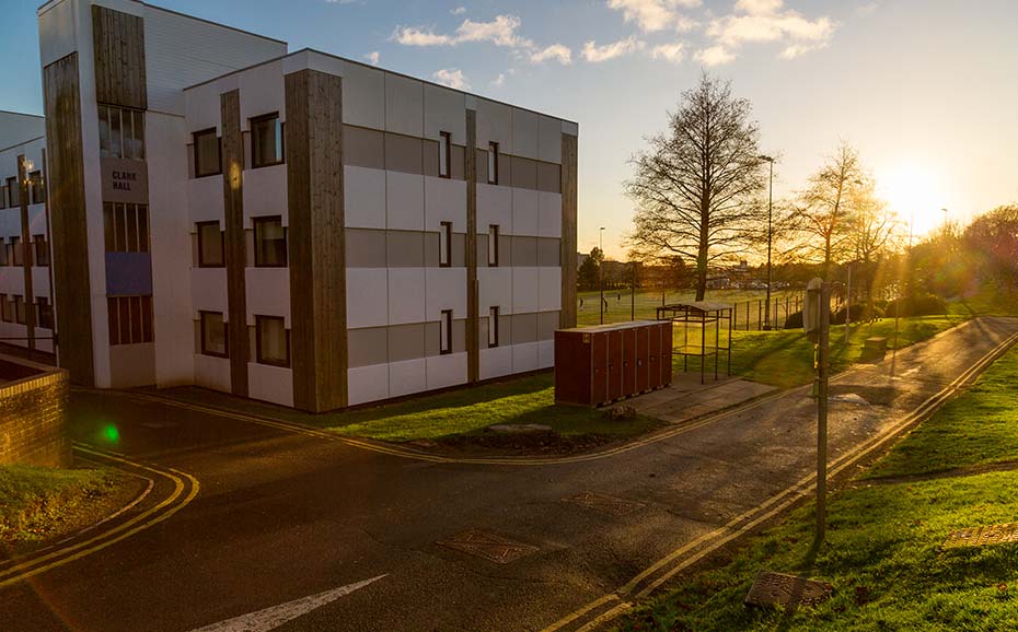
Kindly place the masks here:
[[(832, 460), (895, 430), (1015, 332), (1018, 319), (975, 320), (841, 376)], [(560, 627), (579, 629), (805, 489), (815, 455), (802, 389), (627, 452), (527, 466), (377, 454), (123, 395), (76, 394), (73, 409), (79, 441), (190, 475), (200, 491), (150, 528), (0, 583), (4, 632), (188, 632), (380, 575), (264, 629), (543, 630), (601, 598)], [(464, 532), (520, 557), (439, 543)]]

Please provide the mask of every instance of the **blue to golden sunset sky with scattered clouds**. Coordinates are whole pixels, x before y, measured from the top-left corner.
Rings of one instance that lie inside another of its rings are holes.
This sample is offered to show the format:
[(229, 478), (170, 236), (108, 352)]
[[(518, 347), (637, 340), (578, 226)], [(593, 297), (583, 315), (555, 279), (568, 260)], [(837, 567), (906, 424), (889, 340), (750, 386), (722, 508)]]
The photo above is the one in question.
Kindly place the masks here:
[[(0, 109), (42, 114), (39, 2), (3, 0)], [(152, 3), (579, 122), (581, 251), (604, 226), (626, 258), (628, 160), (703, 71), (752, 102), (776, 197), (845, 141), (916, 234), (1018, 201), (1015, 0)]]

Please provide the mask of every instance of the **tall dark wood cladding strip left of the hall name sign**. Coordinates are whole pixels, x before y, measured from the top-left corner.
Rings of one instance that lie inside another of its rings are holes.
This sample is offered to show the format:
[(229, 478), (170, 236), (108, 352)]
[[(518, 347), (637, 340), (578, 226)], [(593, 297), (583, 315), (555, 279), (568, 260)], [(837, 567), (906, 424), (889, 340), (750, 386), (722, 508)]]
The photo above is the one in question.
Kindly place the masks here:
[(43, 70), (43, 93), (49, 152), (50, 271), (60, 331), (58, 360), (70, 372), (72, 382), (93, 386), (92, 292), (77, 52)]

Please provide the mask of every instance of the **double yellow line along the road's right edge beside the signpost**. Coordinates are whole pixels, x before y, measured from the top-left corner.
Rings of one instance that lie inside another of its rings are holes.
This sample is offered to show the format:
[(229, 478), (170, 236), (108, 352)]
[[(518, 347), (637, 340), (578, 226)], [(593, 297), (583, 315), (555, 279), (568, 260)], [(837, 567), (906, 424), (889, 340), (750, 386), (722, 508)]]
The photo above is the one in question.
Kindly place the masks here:
[[(898, 420), (893, 426), (866, 443), (863, 443), (852, 450), (848, 450), (831, 464), (828, 469), (828, 476), (833, 478), (841, 473), (845, 468), (854, 465), (874, 450), (883, 446), (903, 431), (917, 424), (933, 411), (940, 407), (947, 399), (952, 397), (969, 381), (979, 375), (986, 366), (996, 361), (1000, 355), (1007, 352), (1011, 346), (1018, 342), (1018, 333), (1010, 336), (984, 355), (979, 362), (969, 367), (964, 373), (955, 378), (945, 388), (924, 400), (918, 407), (905, 417)], [(558, 621), (545, 628), (542, 632), (556, 632), (567, 627), (576, 632), (590, 632), (597, 630), (601, 624), (615, 619), (629, 608), (633, 608), (636, 601), (646, 598), (662, 584), (673, 577), (676, 573), (687, 569), (707, 554), (724, 547), (728, 542), (743, 536), (745, 532), (756, 527), (761, 523), (774, 517), (778, 513), (787, 510), (789, 506), (801, 500), (813, 490), (817, 482), (817, 475), (803, 477), (791, 487), (771, 496), (766, 502), (756, 507), (739, 515), (729, 520), (726, 525), (696, 538), (695, 540), (675, 549), (664, 558), (661, 558), (640, 574), (633, 577), (624, 586), (614, 593), (600, 597), (582, 608), (574, 610)], [(699, 550), (696, 550), (699, 548)], [(695, 551), (695, 552), (694, 552)], [(656, 576), (653, 581), (650, 577)], [(649, 582), (648, 582), (649, 581)], [(643, 586), (643, 587), (641, 587)], [(640, 588), (641, 587), (641, 588)], [(639, 588), (639, 589), (638, 589)], [(606, 606), (611, 606), (605, 609)], [(588, 620), (589, 618), (589, 620)], [(580, 625), (582, 623), (582, 625)], [(580, 625), (580, 627), (576, 627)]]

